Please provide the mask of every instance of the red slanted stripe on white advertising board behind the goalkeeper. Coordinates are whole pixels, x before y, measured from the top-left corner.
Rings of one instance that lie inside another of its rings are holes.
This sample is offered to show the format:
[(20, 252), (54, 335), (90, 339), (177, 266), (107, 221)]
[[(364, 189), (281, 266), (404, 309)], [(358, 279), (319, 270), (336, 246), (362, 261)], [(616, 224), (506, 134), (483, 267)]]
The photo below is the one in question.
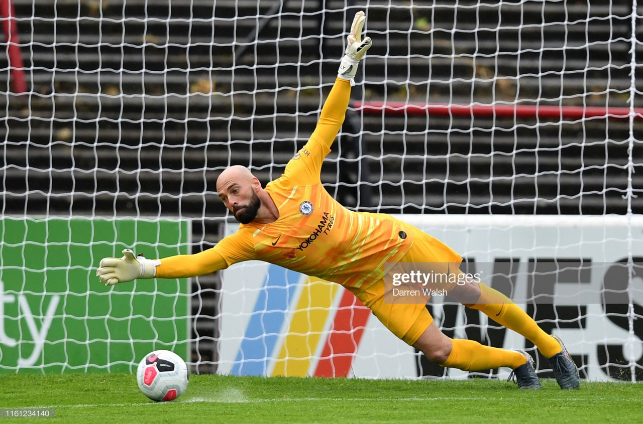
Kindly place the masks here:
[(358, 351), (370, 309), (349, 290), (344, 290), (340, 308), (335, 314), (331, 331), (315, 370), (316, 377), (345, 377), (349, 375), (353, 358)]

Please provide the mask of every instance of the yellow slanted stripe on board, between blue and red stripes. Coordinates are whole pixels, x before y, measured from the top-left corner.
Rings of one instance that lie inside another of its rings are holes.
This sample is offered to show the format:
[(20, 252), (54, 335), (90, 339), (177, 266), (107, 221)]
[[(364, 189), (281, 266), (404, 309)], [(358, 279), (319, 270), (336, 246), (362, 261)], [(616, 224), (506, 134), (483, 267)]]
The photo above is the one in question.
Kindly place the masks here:
[(309, 277), (285, 335), (273, 376), (305, 377), (340, 285)]

